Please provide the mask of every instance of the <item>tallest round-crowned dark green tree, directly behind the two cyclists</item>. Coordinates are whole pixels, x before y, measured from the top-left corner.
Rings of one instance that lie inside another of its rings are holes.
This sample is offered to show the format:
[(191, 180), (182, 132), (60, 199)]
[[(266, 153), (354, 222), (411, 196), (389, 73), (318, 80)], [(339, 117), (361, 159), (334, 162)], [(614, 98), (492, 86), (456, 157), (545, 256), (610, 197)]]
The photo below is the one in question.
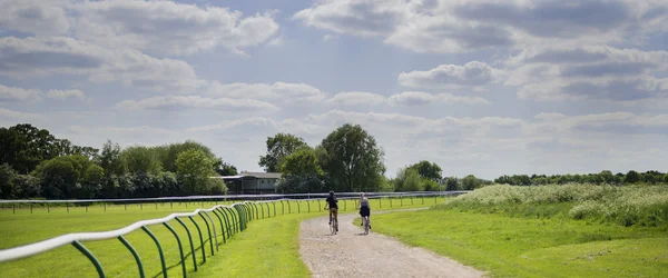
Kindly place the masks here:
[(323, 139), (321, 147), (323, 170), (338, 190), (377, 189), (380, 176), (385, 172), (384, 152), (362, 126), (346, 123), (338, 127)]

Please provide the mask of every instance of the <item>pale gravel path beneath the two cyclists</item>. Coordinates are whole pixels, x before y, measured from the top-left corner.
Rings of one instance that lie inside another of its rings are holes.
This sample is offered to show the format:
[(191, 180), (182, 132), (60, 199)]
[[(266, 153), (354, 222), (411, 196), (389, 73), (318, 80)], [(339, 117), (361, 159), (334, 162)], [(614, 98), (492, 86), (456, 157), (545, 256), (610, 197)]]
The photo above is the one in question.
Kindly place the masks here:
[[(371, 218), (373, 228), (373, 216)], [(363, 235), (355, 214), (338, 216), (330, 235), (328, 216), (308, 219), (299, 229), (299, 254), (313, 277), (482, 277), (483, 272), (422, 248), (373, 232)]]

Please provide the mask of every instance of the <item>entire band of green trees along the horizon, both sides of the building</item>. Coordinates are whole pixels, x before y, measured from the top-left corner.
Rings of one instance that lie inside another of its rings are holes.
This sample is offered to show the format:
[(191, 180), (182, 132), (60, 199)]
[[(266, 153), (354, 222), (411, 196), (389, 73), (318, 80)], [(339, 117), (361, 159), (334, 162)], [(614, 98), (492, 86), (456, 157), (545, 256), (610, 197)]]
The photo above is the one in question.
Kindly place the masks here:
[[(584, 175), (513, 175), (494, 180), (473, 175), (443, 175), (435, 162), (405, 166), (385, 177), (384, 150), (360, 125), (345, 123), (317, 146), (277, 133), (266, 140), (258, 165), (281, 172), (276, 192), (472, 190), (491, 183), (513, 186), (579, 183), (668, 183), (660, 171)], [(215, 175), (237, 169), (196, 141), (120, 148), (108, 140), (101, 149), (58, 139), (28, 123), (0, 128), (0, 198), (136, 198), (220, 195), (227, 187)]]

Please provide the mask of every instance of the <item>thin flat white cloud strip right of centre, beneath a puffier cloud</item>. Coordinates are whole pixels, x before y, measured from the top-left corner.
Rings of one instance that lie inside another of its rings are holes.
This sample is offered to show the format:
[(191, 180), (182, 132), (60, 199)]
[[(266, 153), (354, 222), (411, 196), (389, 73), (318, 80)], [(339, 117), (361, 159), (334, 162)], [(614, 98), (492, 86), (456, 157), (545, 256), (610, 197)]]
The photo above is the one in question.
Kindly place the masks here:
[(454, 96), (452, 93), (428, 93), (421, 91), (404, 91), (390, 97), (390, 102), (397, 106), (425, 106), (431, 103), (449, 105), (490, 105), (491, 102), (481, 97)]

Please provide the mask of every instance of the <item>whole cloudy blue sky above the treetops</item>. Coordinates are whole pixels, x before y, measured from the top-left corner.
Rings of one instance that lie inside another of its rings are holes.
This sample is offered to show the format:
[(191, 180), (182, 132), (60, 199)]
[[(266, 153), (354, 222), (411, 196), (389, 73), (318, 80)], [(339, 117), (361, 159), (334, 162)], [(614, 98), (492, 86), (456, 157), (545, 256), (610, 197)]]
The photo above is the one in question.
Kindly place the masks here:
[(361, 125), (387, 177), (667, 171), (665, 0), (0, 0), (0, 126), (262, 171)]

